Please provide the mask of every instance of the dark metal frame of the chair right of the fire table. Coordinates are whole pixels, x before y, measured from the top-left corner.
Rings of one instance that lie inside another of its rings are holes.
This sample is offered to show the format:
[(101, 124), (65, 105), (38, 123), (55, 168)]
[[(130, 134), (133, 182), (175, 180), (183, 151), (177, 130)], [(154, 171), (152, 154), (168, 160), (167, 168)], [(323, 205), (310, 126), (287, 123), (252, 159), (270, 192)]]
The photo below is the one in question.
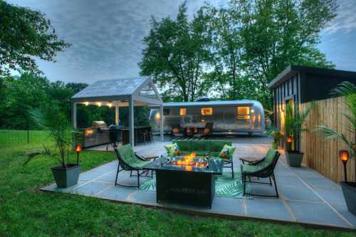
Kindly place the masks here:
[[(276, 178), (274, 175), (274, 168), (276, 167), (276, 164), (278, 162), (278, 158), (281, 154), (279, 152), (276, 153), (275, 157), (273, 157), (273, 161), (271, 162), (271, 164), (268, 164), (267, 167), (264, 167), (256, 172), (244, 172), (242, 170), (242, 164), (241, 164), (241, 176), (242, 176), (242, 182), (244, 183), (244, 195), (246, 194), (246, 183), (250, 183), (250, 184), (266, 184), (269, 186), (272, 186), (272, 180), (271, 177), (273, 179), (273, 183), (274, 183), (274, 188), (276, 190), (276, 196), (274, 195), (261, 195), (261, 194), (250, 194), (251, 196), (262, 196), (262, 197), (276, 197), (279, 198), (279, 194), (278, 194), (278, 189), (277, 189), (277, 183), (276, 183)], [(258, 166), (258, 167), (263, 167), (263, 162), (265, 162), (265, 159), (261, 159), (258, 162), (253, 162), (250, 163), (249, 165), (253, 165), (253, 166)], [(259, 181), (251, 181), (251, 177), (257, 177), (257, 178), (267, 178), (269, 179), (269, 183), (264, 183), (264, 182), (259, 182)], [(248, 178), (248, 181), (246, 180), (246, 178)]]

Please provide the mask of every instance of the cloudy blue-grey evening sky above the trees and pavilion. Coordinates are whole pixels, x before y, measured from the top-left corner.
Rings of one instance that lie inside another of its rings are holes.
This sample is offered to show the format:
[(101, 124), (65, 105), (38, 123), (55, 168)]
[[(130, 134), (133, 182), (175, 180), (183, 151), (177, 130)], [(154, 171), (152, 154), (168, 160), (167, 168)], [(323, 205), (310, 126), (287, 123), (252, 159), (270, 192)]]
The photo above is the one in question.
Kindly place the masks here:
[[(142, 38), (150, 30), (150, 16), (175, 17), (183, 1), (8, 0), (45, 13), (59, 38), (72, 43), (58, 53), (56, 63), (38, 60), (46, 77), (84, 83), (138, 75)], [(189, 15), (203, 4), (204, 0), (188, 0)], [(356, 0), (339, 0), (338, 4), (338, 16), (323, 30), (319, 48), (337, 69), (356, 71)]]

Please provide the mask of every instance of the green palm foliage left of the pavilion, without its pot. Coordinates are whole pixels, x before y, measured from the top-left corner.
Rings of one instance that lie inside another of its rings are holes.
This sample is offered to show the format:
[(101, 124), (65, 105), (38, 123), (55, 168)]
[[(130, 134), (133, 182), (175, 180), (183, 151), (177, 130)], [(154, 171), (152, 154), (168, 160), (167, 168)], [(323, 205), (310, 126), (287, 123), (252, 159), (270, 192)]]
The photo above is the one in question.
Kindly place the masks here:
[[(60, 154), (61, 159), (58, 159), (58, 161), (61, 162), (63, 168), (67, 168), (70, 144), (72, 142), (72, 130), (66, 115), (61, 112), (56, 104), (43, 105), (41, 108), (30, 109), (29, 114), (39, 127), (50, 133), (50, 137), (54, 140)], [(45, 153), (49, 154), (48, 152), (44, 152), (43, 154)], [(29, 159), (33, 157), (35, 157), (35, 155), (29, 156)], [(51, 157), (56, 158), (54, 155), (51, 155)]]

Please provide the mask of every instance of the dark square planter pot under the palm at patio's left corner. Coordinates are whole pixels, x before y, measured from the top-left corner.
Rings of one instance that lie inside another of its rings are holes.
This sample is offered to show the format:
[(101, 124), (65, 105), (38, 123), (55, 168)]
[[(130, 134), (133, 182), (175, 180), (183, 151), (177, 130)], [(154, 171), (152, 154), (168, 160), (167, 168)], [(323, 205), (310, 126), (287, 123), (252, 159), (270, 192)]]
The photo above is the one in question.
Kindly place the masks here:
[(68, 188), (78, 184), (80, 164), (68, 164), (67, 168), (53, 167), (52, 173), (58, 188)]

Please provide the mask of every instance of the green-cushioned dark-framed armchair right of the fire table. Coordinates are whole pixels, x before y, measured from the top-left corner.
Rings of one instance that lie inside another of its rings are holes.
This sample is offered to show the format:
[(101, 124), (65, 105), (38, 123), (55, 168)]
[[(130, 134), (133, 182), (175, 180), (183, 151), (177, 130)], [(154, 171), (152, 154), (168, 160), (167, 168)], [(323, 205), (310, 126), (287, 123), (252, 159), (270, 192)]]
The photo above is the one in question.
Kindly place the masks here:
[[(278, 158), (280, 153), (276, 149), (269, 149), (266, 157), (264, 159), (259, 160), (258, 162), (253, 162), (250, 164), (241, 164), (241, 176), (242, 181), (244, 183), (244, 195), (246, 194), (246, 183), (250, 184), (267, 184), (272, 186), (272, 180), (274, 183), (274, 187), (276, 189), (276, 196), (271, 195), (260, 195), (260, 194), (251, 194), (251, 196), (268, 196), (268, 197), (279, 197), (276, 178), (274, 176), (274, 168), (278, 162)], [(267, 178), (269, 179), (269, 183), (263, 183), (259, 181), (251, 181), (251, 177), (258, 178)], [(248, 180), (247, 180), (248, 179)]]

